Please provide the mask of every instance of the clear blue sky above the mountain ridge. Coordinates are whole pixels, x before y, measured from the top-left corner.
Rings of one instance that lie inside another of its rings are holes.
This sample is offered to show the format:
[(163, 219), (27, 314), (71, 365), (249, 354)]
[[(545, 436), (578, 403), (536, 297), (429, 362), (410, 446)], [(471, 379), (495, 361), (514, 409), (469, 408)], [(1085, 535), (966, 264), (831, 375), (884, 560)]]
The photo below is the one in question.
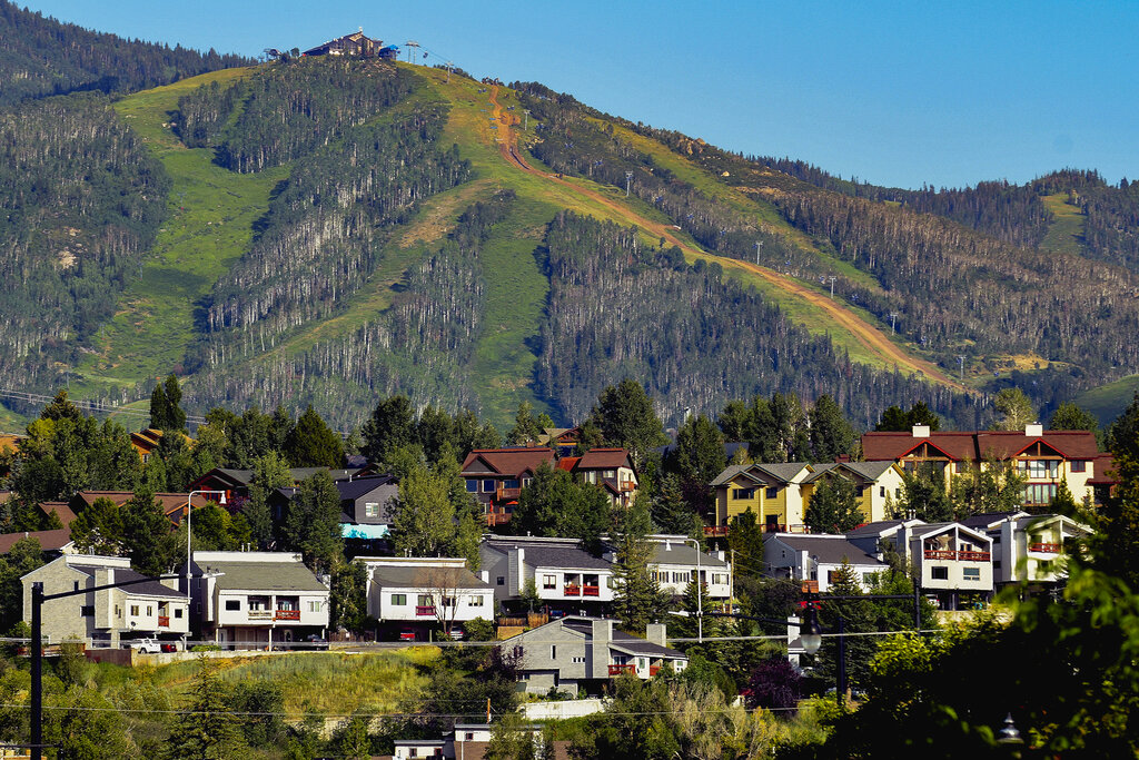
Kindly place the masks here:
[[(880, 185), (1139, 178), (1139, 2), (17, 0), (247, 55), (363, 26), (476, 76)], [(872, 10), (869, 9), (872, 6)]]

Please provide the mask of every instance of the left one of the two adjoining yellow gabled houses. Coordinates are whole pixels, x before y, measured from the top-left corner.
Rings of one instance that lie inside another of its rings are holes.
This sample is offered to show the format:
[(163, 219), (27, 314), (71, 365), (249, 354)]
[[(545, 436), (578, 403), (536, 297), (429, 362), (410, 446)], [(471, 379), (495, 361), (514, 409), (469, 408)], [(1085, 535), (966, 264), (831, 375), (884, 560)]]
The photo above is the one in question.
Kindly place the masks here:
[(811, 472), (805, 461), (729, 465), (712, 481), (715, 524), (705, 532), (726, 536), (731, 520), (748, 510), (765, 531), (803, 530), (801, 484)]

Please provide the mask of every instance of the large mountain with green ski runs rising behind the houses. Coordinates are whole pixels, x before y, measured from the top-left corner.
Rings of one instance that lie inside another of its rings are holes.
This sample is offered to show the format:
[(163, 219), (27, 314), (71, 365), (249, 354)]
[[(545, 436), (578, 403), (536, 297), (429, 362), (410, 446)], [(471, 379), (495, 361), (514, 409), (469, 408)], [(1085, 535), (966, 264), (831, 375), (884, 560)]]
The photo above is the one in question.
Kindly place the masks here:
[(347, 57), (6, 116), (34, 169), (0, 175), (6, 389), (128, 402), (173, 369), (195, 410), (347, 427), (395, 392), (576, 422), (632, 376), (669, 422), (780, 391), (969, 427), (1003, 385), (1047, 410), (1139, 361), (1132, 186), (1092, 172), (878, 188)]

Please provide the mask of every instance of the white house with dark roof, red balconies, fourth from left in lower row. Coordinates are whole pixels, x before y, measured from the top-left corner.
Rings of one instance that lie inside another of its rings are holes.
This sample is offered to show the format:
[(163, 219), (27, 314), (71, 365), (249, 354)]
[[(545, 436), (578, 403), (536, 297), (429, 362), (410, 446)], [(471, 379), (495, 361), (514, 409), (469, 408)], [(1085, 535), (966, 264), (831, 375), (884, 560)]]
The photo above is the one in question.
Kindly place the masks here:
[(521, 608), (530, 582), (554, 611), (600, 612), (613, 602), (613, 565), (577, 539), (484, 536), (478, 553), (495, 602), (506, 606)]

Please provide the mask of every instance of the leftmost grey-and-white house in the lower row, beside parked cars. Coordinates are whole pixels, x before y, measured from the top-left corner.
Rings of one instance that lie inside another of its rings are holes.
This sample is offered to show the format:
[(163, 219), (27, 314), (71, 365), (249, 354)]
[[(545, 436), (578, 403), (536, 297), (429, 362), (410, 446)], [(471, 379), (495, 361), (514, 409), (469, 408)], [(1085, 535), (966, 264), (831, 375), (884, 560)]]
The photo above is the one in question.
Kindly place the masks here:
[[(42, 582), (44, 594), (145, 579), (131, 570), (128, 557), (64, 555), (33, 570), (24, 583), (24, 620), (32, 619), (32, 583)], [(117, 648), (121, 638), (154, 636), (177, 638), (189, 632), (189, 600), (178, 581), (146, 580), (122, 588), (91, 591), (43, 603), (44, 637), (58, 643), (68, 637), (91, 646)]]

